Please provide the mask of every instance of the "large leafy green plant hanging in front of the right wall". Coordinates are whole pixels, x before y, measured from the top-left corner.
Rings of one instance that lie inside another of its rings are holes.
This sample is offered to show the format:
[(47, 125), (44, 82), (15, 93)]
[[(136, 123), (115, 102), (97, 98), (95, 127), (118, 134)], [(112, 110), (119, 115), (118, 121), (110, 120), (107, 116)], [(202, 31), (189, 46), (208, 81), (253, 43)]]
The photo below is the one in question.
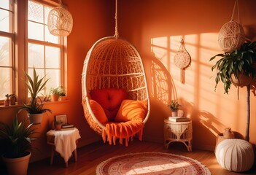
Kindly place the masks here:
[[(245, 42), (239, 49), (233, 50), (233, 52), (214, 55), (210, 61), (217, 57), (220, 57), (220, 60), (212, 66), (212, 71), (214, 69), (217, 70), (215, 90), (220, 81), (223, 82), (225, 93), (228, 94), (231, 82), (234, 83), (236, 79), (238, 79), (238, 82), (241, 82), (241, 85), (235, 84), (238, 86), (249, 85), (251, 80), (255, 79), (256, 71), (253, 64), (256, 61), (256, 42)], [(245, 78), (249, 80), (244, 81)]]

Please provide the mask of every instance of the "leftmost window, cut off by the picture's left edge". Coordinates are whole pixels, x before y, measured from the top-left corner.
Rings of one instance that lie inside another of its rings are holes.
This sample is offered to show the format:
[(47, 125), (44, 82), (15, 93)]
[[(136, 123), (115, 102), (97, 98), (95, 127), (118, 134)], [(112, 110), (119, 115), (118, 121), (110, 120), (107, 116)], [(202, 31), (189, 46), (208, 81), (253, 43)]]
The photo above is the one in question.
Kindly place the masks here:
[(7, 93), (14, 93), (14, 4), (0, 1), (0, 103)]

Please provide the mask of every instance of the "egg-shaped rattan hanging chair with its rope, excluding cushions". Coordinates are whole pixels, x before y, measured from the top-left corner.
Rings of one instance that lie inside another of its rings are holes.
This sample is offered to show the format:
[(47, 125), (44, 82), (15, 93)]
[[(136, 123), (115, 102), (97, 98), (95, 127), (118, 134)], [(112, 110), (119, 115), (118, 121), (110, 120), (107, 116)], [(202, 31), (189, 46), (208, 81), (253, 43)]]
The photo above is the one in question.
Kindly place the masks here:
[(99, 39), (88, 51), (82, 70), (82, 103), (85, 118), (98, 134), (102, 125), (90, 107), (90, 91), (105, 88), (124, 88), (128, 99), (147, 100), (147, 115), (150, 115), (150, 101), (144, 65), (136, 48), (129, 42), (119, 39), (117, 28), (117, 0), (115, 14), (115, 36)]

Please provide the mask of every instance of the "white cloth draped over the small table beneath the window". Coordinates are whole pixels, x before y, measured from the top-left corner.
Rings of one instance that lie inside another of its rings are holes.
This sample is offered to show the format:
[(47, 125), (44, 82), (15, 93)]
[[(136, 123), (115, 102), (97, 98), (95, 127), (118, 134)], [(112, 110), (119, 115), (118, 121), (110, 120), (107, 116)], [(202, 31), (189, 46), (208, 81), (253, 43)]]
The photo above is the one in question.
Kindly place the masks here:
[(81, 138), (77, 128), (67, 131), (50, 130), (47, 132), (47, 136), (55, 136), (55, 150), (60, 153), (65, 162), (68, 162), (72, 152), (77, 148), (77, 139)]

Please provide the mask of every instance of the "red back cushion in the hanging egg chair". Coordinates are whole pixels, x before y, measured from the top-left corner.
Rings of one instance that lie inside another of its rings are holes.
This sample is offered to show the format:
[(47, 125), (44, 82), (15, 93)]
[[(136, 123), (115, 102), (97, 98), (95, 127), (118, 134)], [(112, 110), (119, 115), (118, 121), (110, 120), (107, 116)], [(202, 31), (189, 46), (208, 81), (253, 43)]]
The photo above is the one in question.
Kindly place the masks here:
[(109, 121), (114, 121), (123, 100), (127, 98), (125, 89), (98, 89), (91, 90), (90, 97), (102, 106)]

